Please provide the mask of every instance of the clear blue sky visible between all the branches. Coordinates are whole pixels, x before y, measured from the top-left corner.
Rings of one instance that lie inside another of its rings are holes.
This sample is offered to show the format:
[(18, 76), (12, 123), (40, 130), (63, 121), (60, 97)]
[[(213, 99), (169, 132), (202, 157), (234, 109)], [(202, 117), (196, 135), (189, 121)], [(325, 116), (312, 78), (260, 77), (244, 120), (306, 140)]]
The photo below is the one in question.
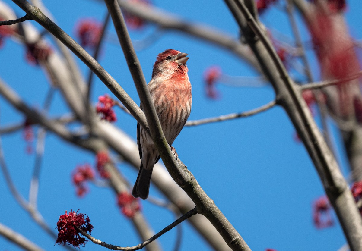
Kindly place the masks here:
[[(13, 7), (18, 16), (24, 14), (12, 1), (4, 2)], [(59, 26), (72, 37), (75, 37), (75, 24), (81, 18), (93, 17), (102, 21), (106, 13), (104, 4), (98, 1), (44, 0), (44, 3)], [(202, 22), (235, 38), (238, 36), (237, 25), (223, 1), (175, 0), (153, 3), (188, 21)], [(291, 37), (286, 14), (280, 6), (267, 10), (261, 20), (266, 26)], [(350, 33), (356, 39), (362, 37), (361, 9), (360, 1), (348, 1), (346, 19)], [(28, 22), (40, 28), (34, 21)], [(142, 32), (131, 31), (130, 34), (132, 39), (142, 39), (153, 30), (155, 27), (149, 25)], [(111, 26), (108, 33), (115, 34)], [(302, 34), (303, 41), (308, 42), (305, 29), (302, 29)], [(220, 65), (222, 71), (231, 76), (256, 76), (256, 73), (230, 52), (176, 31), (163, 34), (148, 48), (137, 52), (147, 81), (151, 78), (156, 55), (167, 48), (186, 52), (190, 57), (189, 77), (193, 86), (190, 120), (246, 111), (274, 99), (274, 91), (268, 85), (258, 88), (218, 85), (221, 98), (207, 98), (203, 83), (203, 72), (207, 67)], [(49, 85), (41, 69), (26, 63), (24, 55), (22, 46), (7, 40), (0, 49), (0, 77), (30, 105), (41, 107)], [(317, 80), (319, 72), (312, 51), (308, 52), (308, 57)], [(139, 103), (119, 45), (106, 42), (99, 61), (135, 102)], [(87, 76), (87, 67), (79, 60), (78, 63), (82, 73)], [(111, 94), (98, 79), (94, 86), (94, 102), (98, 95)], [(24, 119), (3, 98), (0, 98), (0, 108), (1, 125)], [(65, 112), (67, 107), (60, 94), (56, 93), (50, 114), (59, 115)], [(116, 125), (135, 139), (136, 121), (120, 110), (117, 110), (117, 117)], [(340, 148), (338, 132), (333, 124), (330, 126), (336, 136), (335, 144)], [(13, 181), (21, 194), (28, 197), (34, 155), (25, 153), (26, 143), (22, 139), (22, 131), (4, 135), (2, 143)], [(311, 204), (323, 195), (324, 191), (304, 146), (294, 140), (294, 128), (280, 107), (250, 118), (184, 128), (173, 145), (202, 188), (252, 250), (338, 250), (345, 244), (338, 224), (322, 230), (316, 229), (312, 224)], [(346, 174), (346, 157), (339, 152), (338, 161)], [(87, 213), (92, 220), (94, 237), (119, 246), (138, 244), (139, 239), (130, 221), (119, 212), (112, 191), (90, 185), (90, 192), (84, 198), (79, 199), (75, 195), (71, 172), (76, 165), (83, 163), (93, 165), (94, 156), (59, 140), (55, 135), (47, 135), (38, 195), (38, 208), (45, 220), (55, 228), (60, 214), (65, 210), (80, 208), (80, 212)], [(118, 167), (130, 183), (134, 183), (136, 171), (125, 163), (120, 163)], [(20, 208), (4, 182), (3, 175), (0, 175), (0, 222), (22, 233), (45, 250), (63, 250), (58, 245), (54, 246), (54, 240)], [(152, 186), (150, 194), (162, 197)], [(142, 207), (155, 231), (173, 221), (170, 212), (148, 201), (142, 201)], [(333, 217), (336, 221), (336, 217)], [(180, 250), (211, 250), (188, 223), (183, 223), (182, 229)], [(159, 239), (163, 250), (172, 250), (175, 236), (176, 231), (171, 230)], [(88, 243), (85, 249), (101, 250), (102, 247)], [(20, 249), (0, 237), (0, 250)]]

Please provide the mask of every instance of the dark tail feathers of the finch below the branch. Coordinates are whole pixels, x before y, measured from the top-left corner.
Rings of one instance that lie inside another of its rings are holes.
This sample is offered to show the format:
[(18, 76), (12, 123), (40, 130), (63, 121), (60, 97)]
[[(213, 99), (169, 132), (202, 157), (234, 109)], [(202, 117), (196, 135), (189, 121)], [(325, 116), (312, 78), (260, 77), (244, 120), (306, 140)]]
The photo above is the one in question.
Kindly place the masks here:
[(151, 174), (153, 167), (150, 169), (145, 169), (141, 161), (141, 166), (139, 168), (139, 173), (136, 179), (136, 183), (132, 190), (132, 195), (134, 197), (140, 197), (143, 200), (146, 200), (148, 197), (148, 192), (150, 191), (151, 183)]

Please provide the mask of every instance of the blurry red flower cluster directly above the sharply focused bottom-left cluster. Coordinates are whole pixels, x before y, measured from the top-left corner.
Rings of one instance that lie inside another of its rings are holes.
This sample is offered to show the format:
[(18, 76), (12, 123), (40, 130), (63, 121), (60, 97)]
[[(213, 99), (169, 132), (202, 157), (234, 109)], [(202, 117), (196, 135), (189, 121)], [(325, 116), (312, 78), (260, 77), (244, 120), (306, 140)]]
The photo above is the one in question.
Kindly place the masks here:
[(86, 192), (88, 192), (87, 180), (94, 179), (94, 171), (89, 164), (84, 164), (83, 166), (77, 166), (75, 172), (73, 173), (73, 183), (76, 186), (77, 195), (82, 197)]

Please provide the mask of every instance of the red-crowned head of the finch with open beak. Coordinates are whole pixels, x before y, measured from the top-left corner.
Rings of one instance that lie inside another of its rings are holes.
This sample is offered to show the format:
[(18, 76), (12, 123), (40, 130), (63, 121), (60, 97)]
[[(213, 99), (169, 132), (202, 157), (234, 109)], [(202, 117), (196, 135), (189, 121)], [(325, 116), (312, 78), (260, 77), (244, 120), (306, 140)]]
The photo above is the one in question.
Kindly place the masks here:
[(163, 76), (171, 76), (174, 74), (186, 75), (188, 68), (186, 62), (189, 59), (186, 57), (188, 54), (167, 49), (157, 55), (157, 60), (153, 65), (152, 78), (159, 74)]

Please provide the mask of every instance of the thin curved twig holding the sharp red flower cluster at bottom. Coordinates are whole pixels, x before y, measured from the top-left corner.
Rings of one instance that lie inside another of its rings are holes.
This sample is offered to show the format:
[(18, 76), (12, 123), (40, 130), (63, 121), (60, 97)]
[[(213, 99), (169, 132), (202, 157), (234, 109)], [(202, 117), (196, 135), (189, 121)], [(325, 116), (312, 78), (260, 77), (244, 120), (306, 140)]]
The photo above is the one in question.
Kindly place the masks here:
[(161, 231), (159, 231), (157, 234), (153, 235), (150, 239), (148, 239), (147, 241), (140, 243), (136, 246), (133, 247), (120, 247), (120, 246), (115, 246), (115, 245), (111, 245), (111, 244), (107, 244), (105, 242), (102, 242), (101, 240), (98, 240), (94, 237), (92, 237), (91, 235), (89, 235), (87, 232), (81, 230), (80, 228), (76, 228), (77, 231), (79, 231), (82, 235), (84, 235), (85, 237), (87, 237), (90, 241), (92, 241), (95, 244), (101, 245), (102, 247), (106, 247), (110, 250), (123, 250), (123, 251), (135, 251), (135, 250), (140, 250), (141, 248), (143, 248), (144, 246), (146, 246), (147, 244), (153, 242), (155, 239), (159, 238), (161, 235), (163, 235), (164, 233), (168, 232), (169, 230), (173, 229), (173, 227), (177, 226), (178, 224), (180, 224), (182, 221), (187, 220), (188, 218), (190, 218), (191, 216), (194, 216), (195, 214), (197, 214), (197, 209), (191, 209), (189, 212), (185, 213), (183, 216), (181, 216), (180, 218), (178, 218), (176, 221), (174, 221), (173, 223), (171, 223), (170, 225), (168, 225), (167, 227), (165, 227), (164, 229), (162, 229)]

